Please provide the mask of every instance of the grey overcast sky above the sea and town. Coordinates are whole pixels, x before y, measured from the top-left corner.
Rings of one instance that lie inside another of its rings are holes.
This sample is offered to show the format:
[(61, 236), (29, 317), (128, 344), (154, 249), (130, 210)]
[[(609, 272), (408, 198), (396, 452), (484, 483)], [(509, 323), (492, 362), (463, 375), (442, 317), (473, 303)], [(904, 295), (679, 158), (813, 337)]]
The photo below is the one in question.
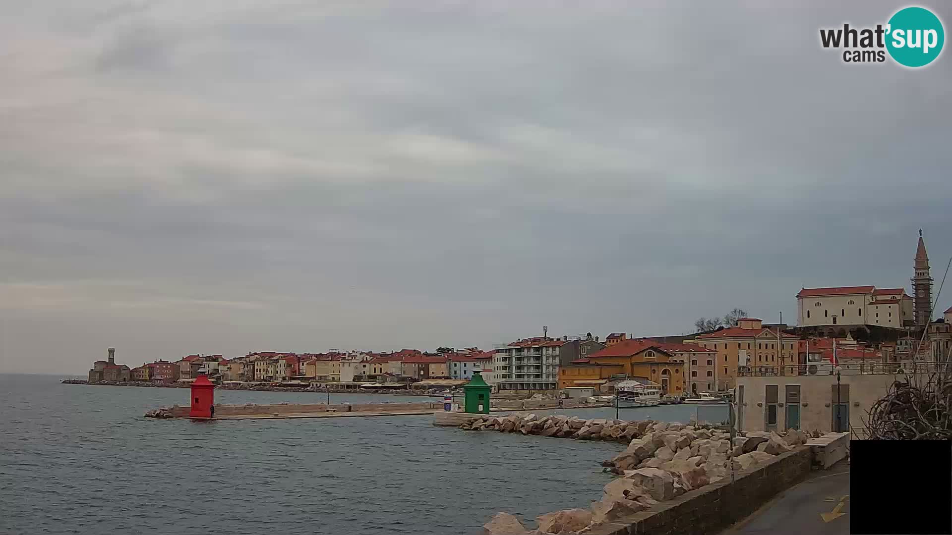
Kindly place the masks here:
[(938, 287), (950, 50), (819, 45), (905, 4), (390, 4), (0, 0), (0, 371), (792, 321), (919, 228)]

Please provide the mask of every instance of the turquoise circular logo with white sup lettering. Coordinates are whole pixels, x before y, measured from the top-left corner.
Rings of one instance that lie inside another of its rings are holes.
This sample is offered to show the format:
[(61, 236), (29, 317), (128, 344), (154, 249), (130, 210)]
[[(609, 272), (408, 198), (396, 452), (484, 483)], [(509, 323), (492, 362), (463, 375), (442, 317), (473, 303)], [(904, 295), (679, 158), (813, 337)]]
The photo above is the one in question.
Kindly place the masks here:
[(923, 67), (939, 57), (945, 43), (942, 21), (930, 10), (905, 8), (896, 11), (887, 27), (886, 50), (900, 65)]

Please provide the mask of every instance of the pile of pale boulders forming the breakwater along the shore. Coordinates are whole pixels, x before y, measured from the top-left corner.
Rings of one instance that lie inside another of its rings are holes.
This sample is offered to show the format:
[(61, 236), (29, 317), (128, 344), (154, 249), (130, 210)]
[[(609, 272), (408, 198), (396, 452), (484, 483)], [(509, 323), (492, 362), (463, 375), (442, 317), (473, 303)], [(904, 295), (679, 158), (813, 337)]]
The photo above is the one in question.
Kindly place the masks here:
[(565, 509), (538, 518), (529, 530), (518, 517), (498, 513), (484, 525), (486, 535), (576, 534), (689, 490), (730, 478), (731, 472), (765, 465), (776, 455), (803, 445), (808, 435), (789, 430), (749, 431), (731, 437), (729, 430), (664, 422), (583, 420), (569, 416), (483, 417), (460, 426), (470, 430), (519, 432), (525, 435), (627, 443), (625, 450), (602, 463), (621, 477), (605, 485), (603, 496), (587, 509)]

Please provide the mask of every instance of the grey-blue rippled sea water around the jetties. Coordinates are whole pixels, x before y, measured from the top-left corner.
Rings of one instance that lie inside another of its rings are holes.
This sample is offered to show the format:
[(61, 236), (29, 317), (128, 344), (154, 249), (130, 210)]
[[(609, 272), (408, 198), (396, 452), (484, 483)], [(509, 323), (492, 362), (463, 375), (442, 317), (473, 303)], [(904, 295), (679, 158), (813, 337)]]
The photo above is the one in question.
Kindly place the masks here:
[[(0, 374), (0, 533), (479, 533), (497, 511), (532, 520), (587, 506), (612, 477), (598, 463), (622, 449), (436, 427), (429, 416), (151, 420), (146, 410), (186, 405), (188, 390), (60, 379)], [(221, 405), (325, 399), (215, 396)], [(431, 400), (331, 394), (331, 403)], [(687, 422), (694, 411), (623, 408), (621, 417)]]

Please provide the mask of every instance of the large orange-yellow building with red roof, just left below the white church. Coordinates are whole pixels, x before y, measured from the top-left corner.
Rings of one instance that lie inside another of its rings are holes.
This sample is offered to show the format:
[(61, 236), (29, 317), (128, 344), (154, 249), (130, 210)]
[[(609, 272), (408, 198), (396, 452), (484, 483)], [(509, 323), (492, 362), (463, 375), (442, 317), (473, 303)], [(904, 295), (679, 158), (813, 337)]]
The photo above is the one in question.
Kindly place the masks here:
[(765, 328), (756, 318), (741, 318), (737, 327), (698, 335), (693, 342), (717, 351), (714, 359), (714, 383), (718, 390), (734, 387), (738, 367), (773, 367), (778, 374), (795, 374), (798, 337)]

